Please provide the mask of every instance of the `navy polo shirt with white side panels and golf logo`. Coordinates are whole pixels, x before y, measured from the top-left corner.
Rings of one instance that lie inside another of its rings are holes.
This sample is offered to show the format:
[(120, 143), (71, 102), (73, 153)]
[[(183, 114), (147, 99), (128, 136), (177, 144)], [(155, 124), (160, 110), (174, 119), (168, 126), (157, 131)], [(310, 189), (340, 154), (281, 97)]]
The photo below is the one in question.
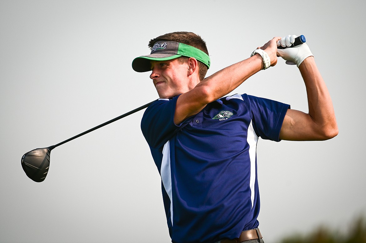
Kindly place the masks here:
[(152, 103), (141, 121), (161, 175), (172, 242), (238, 238), (259, 225), (258, 137), (280, 141), (290, 106), (236, 94), (208, 104), (177, 126), (177, 99)]

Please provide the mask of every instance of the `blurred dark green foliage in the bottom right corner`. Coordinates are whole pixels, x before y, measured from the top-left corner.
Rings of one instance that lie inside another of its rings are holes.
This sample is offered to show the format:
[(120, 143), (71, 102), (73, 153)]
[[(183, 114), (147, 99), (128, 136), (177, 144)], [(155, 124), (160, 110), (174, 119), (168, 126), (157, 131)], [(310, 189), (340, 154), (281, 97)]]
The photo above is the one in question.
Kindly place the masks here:
[(366, 220), (359, 217), (346, 232), (319, 227), (307, 236), (295, 234), (279, 243), (366, 243)]

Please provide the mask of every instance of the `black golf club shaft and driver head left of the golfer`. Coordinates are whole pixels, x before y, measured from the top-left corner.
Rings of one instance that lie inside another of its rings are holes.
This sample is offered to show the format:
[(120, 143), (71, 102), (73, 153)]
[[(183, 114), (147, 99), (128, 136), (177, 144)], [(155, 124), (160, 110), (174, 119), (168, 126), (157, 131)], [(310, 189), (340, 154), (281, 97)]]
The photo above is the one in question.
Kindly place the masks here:
[(62, 141), (61, 143), (52, 145), (48, 148), (36, 148), (33, 149), (27, 153), (25, 153), (22, 156), (22, 167), (23, 170), (25, 172), (25, 174), (32, 179), (35, 182), (42, 182), (44, 181), (44, 179), (46, 178), (46, 175), (48, 173), (48, 168), (49, 168), (49, 160), (50, 160), (50, 155), (51, 155), (51, 150), (60, 146), (61, 144), (67, 143), (71, 140), (74, 140), (75, 138), (78, 138), (80, 136), (83, 136), (87, 133), (90, 133), (98, 128), (101, 128), (102, 126), (108, 125), (112, 122), (115, 122), (123, 117), (127, 117), (128, 115), (131, 115), (139, 110), (145, 109), (146, 107), (148, 107), (149, 105), (151, 105), (153, 102), (155, 102), (156, 100), (147, 103), (146, 105), (143, 105), (141, 107), (138, 107), (134, 110), (131, 110), (123, 115), (120, 115), (119, 117), (116, 117), (114, 119), (111, 119), (107, 122), (104, 122), (103, 124), (100, 124), (94, 128), (91, 128), (85, 132), (82, 132), (74, 137), (71, 137), (65, 141)]

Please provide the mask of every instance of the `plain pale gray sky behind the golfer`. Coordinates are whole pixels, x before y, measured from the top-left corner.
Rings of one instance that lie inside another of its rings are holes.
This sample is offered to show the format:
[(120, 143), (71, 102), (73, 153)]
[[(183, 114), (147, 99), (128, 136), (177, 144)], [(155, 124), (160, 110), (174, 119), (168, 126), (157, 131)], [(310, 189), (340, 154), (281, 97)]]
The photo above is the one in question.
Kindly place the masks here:
[[(339, 135), (259, 140), (259, 228), (266, 242), (322, 224), (347, 228), (366, 214), (364, 9), (364, 1), (1, 0), (0, 242), (170, 242), (143, 111), (55, 148), (42, 183), (20, 158), (158, 98), (131, 61), (172, 31), (206, 40), (208, 75), (274, 36), (306, 36)], [(233, 93), (307, 112), (299, 71), (283, 60)]]

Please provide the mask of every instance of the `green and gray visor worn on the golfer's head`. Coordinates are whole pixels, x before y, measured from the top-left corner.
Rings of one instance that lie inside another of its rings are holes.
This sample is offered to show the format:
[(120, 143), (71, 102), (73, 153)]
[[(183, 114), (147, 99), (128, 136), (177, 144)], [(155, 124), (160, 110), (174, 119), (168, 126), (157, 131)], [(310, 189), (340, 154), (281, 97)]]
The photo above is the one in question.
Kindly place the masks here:
[(136, 57), (132, 61), (132, 68), (136, 72), (148, 72), (151, 71), (150, 60), (167, 61), (181, 56), (194, 57), (210, 68), (210, 57), (206, 53), (193, 46), (173, 41), (156, 42), (150, 55)]

